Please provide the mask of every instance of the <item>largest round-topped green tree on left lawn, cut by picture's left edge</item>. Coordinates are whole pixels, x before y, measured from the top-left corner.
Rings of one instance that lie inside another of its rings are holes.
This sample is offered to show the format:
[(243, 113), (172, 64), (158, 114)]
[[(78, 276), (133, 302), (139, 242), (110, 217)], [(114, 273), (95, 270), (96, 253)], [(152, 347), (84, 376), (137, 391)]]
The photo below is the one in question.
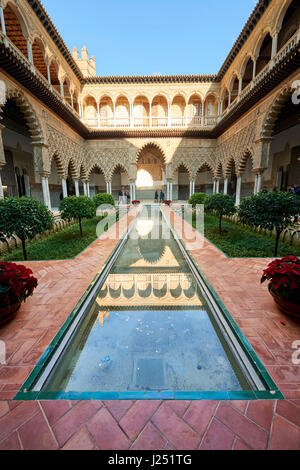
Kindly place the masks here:
[(0, 201), (0, 239), (16, 235), (27, 260), (26, 241), (53, 227), (49, 209), (31, 197), (14, 197)]

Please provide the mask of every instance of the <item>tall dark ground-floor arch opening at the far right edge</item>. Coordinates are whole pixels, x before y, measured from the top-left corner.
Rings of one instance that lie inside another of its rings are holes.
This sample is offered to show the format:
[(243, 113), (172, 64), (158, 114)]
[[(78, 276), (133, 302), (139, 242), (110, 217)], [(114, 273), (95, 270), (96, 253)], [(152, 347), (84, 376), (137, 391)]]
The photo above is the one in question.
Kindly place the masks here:
[(270, 165), (263, 187), (282, 191), (300, 187), (300, 107), (286, 97), (271, 131)]

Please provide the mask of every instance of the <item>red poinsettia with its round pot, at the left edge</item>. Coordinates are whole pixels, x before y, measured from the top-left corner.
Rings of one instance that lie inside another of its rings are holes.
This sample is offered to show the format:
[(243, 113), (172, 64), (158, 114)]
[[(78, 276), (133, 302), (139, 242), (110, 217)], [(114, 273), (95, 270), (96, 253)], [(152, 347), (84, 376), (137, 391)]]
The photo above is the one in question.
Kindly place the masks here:
[(21, 303), (32, 295), (37, 284), (31, 269), (15, 263), (0, 263), (0, 325), (15, 317)]

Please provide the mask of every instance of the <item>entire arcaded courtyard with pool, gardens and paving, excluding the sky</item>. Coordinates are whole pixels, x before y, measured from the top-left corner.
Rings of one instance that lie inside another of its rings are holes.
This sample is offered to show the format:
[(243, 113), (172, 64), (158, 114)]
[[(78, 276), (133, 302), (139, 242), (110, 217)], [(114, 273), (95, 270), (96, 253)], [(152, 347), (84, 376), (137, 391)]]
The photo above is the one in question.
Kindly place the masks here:
[(0, 5), (1, 450), (300, 449), (299, 15), (108, 77)]

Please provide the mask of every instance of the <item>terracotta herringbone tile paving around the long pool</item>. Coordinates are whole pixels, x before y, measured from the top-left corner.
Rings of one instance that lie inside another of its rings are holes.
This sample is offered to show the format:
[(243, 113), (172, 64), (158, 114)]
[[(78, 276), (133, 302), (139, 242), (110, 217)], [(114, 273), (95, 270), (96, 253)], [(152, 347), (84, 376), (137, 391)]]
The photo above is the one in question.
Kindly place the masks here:
[(75, 260), (27, 263), (39, 287), (0, 329), (0, 449), (300, 449), (300, 366), (291, 360), (300, 324), (260, 286), (268, 260), (227, 259), (207, 241), (192, 255), (285, 400), (12, 401), (115, 244), (99, 239)]

